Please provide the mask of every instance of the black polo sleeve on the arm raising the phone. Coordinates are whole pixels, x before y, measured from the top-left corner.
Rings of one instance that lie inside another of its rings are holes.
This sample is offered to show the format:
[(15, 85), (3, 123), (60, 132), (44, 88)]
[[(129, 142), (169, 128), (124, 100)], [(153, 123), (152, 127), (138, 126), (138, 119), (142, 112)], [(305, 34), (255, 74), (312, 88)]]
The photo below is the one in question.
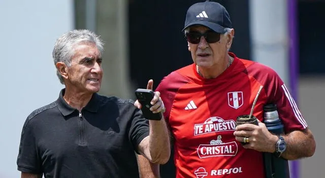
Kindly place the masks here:
[(140, 154), (138, 145), (147, 136), (149, 136), (149, 121), (143, 117), (141, 110), (136, 109), (129, 130), (129, 139), (138, 154)]

